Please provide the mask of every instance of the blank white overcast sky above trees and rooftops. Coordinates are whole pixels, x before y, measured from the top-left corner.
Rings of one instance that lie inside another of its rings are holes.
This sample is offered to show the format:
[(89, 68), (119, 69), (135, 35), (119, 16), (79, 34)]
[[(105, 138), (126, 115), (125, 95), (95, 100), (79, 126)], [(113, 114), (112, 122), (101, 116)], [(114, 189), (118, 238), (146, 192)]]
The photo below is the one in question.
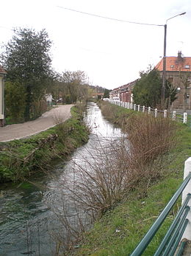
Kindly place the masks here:
[(181, 51), (191, 57), (190, 0), (6, 0), (1, 1), (0, 46), (10, 41), (13, 28), (46, 29), (56, 72), (81, 70), (91, 85), (115, 89), (161, 60), (166, 21), (167, 56)]

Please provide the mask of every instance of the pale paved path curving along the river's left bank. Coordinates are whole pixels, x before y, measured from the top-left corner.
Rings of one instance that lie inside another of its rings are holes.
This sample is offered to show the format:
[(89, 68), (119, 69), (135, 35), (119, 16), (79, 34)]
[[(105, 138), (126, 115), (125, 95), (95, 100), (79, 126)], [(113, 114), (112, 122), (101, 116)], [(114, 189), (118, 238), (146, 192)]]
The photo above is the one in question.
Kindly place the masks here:
[(21, 139), (40, 131), (45, 131), (57, 125), (59, 122), (65, 122), (71, 117), (71, 107), (73, 105), (59, 105), (57, 108), (47, 111), (37, 120), (24, 122), (15, 125), (6, 125), (0, 127), (0, 142), (6, 142), (13, 139)]

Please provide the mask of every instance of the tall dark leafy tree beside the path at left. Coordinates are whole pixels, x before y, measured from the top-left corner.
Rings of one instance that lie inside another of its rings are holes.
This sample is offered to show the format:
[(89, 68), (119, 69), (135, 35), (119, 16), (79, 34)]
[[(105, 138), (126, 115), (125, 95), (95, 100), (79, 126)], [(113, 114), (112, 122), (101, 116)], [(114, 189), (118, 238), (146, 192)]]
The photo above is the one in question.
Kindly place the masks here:
[(7, 70), (7, 80), (25, 88), (26, 121), (31, 118), (32, 103), (41, 100), (46, 89), (51, 72), (51, 41), (46, 30), (35, 32), (20, 28), (14, 32), (12, 40), (4, 46), (1, 63)]

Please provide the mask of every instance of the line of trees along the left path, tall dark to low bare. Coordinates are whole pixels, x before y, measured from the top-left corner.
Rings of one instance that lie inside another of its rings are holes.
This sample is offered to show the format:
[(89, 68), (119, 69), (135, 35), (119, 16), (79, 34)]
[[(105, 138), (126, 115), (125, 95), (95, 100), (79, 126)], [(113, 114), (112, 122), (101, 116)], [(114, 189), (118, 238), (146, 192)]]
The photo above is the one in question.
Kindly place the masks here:
[[(13, 122), (34, 120), (47, 110), (46, 94), (54, 102), (76, 103), (95, 94), (85, 72), (51, 68), (51, 40), (46, 30), (14, 30), (12, 39), (3, 46), (0, 63), (7, 71), (5, 114)], [(104, 90), (102, 88), (102, 90)]]

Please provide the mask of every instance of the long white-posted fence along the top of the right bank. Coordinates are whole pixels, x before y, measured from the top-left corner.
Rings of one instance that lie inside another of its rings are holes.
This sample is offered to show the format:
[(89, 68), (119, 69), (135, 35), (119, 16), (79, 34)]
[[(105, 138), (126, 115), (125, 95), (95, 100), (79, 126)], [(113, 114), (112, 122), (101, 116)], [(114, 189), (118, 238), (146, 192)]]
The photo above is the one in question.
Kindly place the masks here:
[(109, 100), (109, 103), (120, 105), (123, 108), (128, 108), (134, 111), (142, 111), (147, 112), (148, 114), (153, 114), (154, 117), (158, 117), (159, 115), (162, 117), (170, 117), (173, 119), (173, 121), (180, 121), (183, 123), (187, 123), (187, 113), (184, 112), (184, 114), (176, 113), (176, 111), (170, 111), (168, 112), (167, 109), (164, 111), (161, 111), (157, 108), (151, 108), (151, 107), (145, 107), (145, 105), (136, 105), (133, 103), (125, 103), (123, 101), (115, 101), (115, 100)]

